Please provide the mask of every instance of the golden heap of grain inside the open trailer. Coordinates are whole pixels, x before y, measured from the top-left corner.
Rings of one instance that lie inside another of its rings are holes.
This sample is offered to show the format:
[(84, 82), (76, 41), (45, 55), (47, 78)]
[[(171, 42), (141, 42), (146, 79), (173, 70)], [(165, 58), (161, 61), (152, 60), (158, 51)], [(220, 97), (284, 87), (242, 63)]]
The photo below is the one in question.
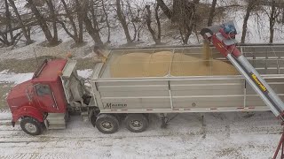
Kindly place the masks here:
[(202, 59), (186, 55), (186, 53), (170, 51), (121, 55), (115, 57), (110, 71), (113, 78), (238, 74), (232, 64), (222, 60)]

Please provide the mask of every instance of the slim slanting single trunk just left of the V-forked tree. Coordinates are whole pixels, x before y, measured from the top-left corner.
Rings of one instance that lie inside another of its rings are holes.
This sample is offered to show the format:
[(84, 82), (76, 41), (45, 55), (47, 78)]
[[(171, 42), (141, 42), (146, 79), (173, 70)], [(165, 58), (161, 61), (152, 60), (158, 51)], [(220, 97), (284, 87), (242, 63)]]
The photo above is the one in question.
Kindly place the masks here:
[(117, 14), (119, 21), (122, 24), (122, 28), (123, 28), (124, 34), (126, 36), (127, 43), (131, 43), (132, 40), (131, 40), (131, 37), (130, 37), (130, 31), (128, 30), (128, 25), (126, 23), (126, 20), (125, 20), (123, 14), (122, 14), (122, 8), (121, 8), (121, 1), (120, 0), (116, 0), (116, 14)]

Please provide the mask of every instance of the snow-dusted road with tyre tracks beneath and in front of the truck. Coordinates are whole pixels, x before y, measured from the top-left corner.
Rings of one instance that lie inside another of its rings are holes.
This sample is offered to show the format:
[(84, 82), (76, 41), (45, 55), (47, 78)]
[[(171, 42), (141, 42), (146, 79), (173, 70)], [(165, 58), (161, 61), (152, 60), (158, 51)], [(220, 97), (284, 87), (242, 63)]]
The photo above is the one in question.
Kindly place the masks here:
[(3, 124), (0, 114), (0, 158), (257, 158), (272, 156), (281, 127), (271, 112), (180, 114), (161, 129), (150, 116), (144, 133), (99, 133), (80, 117), (71, 117), (66, 130), (29, 136), (20, 126)]

